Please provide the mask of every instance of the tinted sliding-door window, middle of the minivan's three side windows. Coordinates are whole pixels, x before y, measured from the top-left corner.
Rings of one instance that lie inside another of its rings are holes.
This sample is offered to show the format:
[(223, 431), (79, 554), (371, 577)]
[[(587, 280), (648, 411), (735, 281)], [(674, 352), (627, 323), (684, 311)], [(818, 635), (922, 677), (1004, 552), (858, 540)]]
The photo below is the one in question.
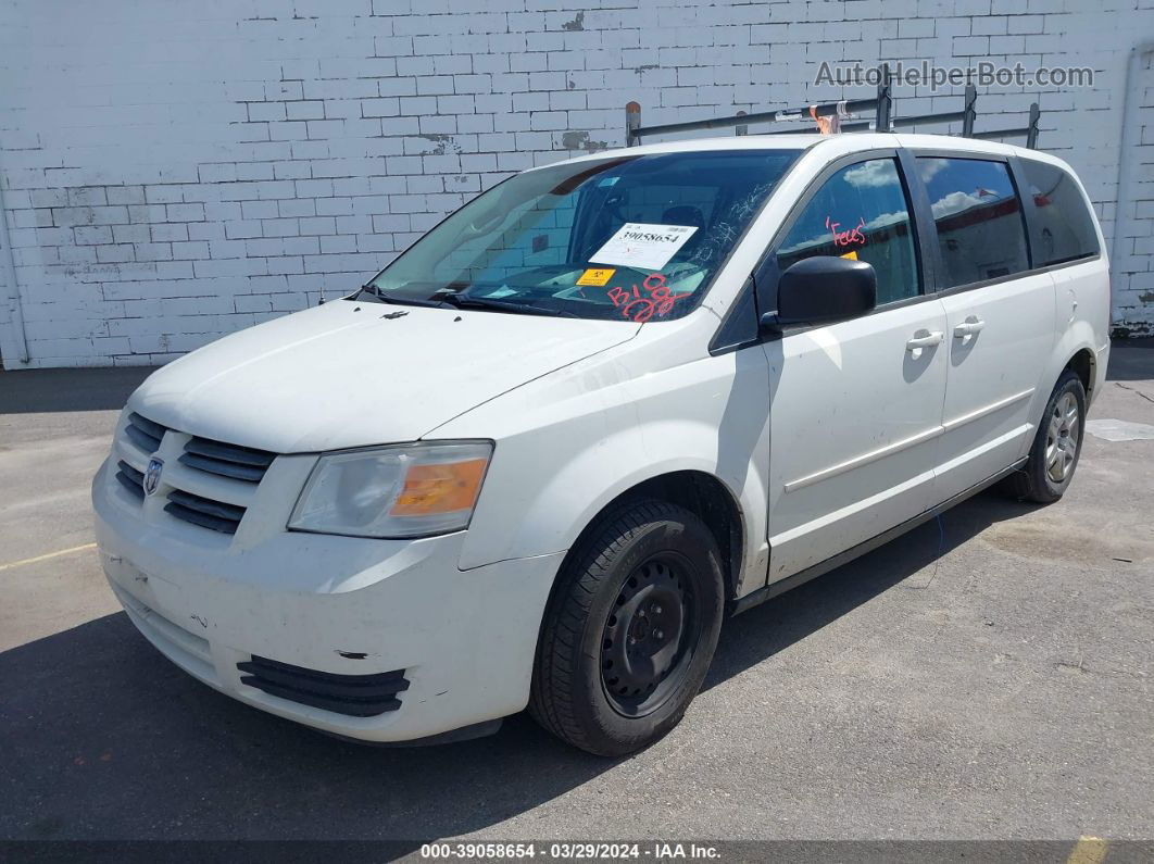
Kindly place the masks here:
[(1029, 269), (1021, 202), (1004, 163), (919, 157), (942, 249), (943, 287)]

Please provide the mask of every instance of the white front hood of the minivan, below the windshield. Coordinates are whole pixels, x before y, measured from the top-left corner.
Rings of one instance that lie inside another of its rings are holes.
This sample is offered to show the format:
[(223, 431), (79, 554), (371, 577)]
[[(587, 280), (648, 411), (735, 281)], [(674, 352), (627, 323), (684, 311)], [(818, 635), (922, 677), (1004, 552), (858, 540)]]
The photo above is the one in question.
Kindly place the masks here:
[(639, 326), (337, 300), (170, 363), (129, 405), (173, 429), (278, 453), (415, 441)]

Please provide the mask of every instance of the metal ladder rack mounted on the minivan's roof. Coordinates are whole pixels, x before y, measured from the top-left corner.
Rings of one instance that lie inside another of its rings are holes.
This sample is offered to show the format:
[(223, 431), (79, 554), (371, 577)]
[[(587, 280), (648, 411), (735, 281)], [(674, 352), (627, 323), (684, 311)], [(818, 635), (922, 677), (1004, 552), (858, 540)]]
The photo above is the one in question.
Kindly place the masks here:
[[(960, 122), (961, 134), (967, 138), (997, 140), (1020, 136), (1026, 138), (1026, 146), (1032, 150), (1037, 148), (1037, 126), (1042, 112), (1036, 102), (1029, 106), (1029, 122), (1027, 126), (1012, 129), (989, 129), (986, 132), (974, 132), (974, 122), (977, 120), (976, 103), (977, 88), (973, 84), (967, 84), (961, 111), (893, 117), (893, 77), (889, 65), (883, 63), (882, 75), (877, 85), (877, 96), (870, 99), (844, 99), (822, 105), (804, 105), (797, 108), (781, 108), (779, 111), (759, 111), (751, 114), (739, 111), (736, 114), (728, 117), (684, 120), (662, 126), (642, 126), (642, 106), (639, 103), (630, 102), (625, 105), (625, 146), (640, 144), (643, 137), (669, 135), (679, 132), (696, 132), (697, 129), (734, 127), (734, 134), (748, 135), (751, 123), (772, 123), (781, 120), (804, 120), (809, 118), (817, 123), (823, 134), (831, 132), (862, 132), (868, 129), (894, 132), (896, 129), (926, 123)], [(842, 122), (854, 119), (856, 114), (867, 112), (874, 113), (872, 120)], [(793, 129), (781, 129), (760, 134), (787, 135), (793, 133)]]

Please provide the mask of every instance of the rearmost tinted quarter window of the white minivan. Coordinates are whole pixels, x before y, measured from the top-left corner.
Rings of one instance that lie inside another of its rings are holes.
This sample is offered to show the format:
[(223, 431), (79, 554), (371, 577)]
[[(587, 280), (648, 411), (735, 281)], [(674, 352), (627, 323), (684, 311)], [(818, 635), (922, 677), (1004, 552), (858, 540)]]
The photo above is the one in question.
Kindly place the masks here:
[(1021, 166), (1040, 224), (1035, 263), (1044, 266), (1097, 255), (1094, 217), (1074, 179), (1042, 161), (1022, 159)]

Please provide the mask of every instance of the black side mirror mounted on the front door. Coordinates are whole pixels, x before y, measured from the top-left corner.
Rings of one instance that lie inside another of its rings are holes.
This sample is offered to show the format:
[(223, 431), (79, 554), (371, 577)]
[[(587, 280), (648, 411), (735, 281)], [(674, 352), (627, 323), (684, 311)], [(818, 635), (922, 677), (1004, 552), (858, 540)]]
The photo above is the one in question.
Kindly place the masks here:
[[(877, 306), (877, 273), (871, 264), (817, 255), (789, 266), (778, 280), (778, 314), (763, 325), (816, 324), (852, 318)], [(766, 318), (772, 318), (766, 321)]]

